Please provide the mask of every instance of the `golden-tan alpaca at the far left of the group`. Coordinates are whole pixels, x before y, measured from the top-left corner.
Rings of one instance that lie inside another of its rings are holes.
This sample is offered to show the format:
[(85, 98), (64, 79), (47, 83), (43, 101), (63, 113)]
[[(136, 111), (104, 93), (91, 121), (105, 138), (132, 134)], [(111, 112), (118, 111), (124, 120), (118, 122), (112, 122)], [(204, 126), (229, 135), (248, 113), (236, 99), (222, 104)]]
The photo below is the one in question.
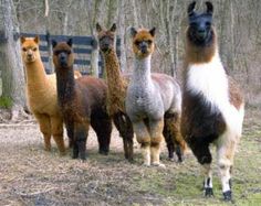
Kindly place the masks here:
[(58, 107), (55, 75), (46, 75), (39, 52), (39, 36), (21, 36), (22, 59), (27, 75), (27, 101), (40, 124), (44, 149), (51, 150), (51, 135), (61, 154), (65, 153), (63, 120)]

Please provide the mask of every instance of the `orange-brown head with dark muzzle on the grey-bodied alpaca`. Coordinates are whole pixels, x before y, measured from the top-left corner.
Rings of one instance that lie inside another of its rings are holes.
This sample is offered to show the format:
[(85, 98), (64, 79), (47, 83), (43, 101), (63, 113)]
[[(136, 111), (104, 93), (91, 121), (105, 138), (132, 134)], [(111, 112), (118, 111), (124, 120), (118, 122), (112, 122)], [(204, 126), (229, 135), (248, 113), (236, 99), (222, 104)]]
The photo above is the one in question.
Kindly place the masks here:
[(133, 36), (133, 52), (138, 58), (144, 58), (150, 55), (155, 48), (155, 28), (152, 30), (139, 30), (136, 31), (134, 28), (130, 29)]

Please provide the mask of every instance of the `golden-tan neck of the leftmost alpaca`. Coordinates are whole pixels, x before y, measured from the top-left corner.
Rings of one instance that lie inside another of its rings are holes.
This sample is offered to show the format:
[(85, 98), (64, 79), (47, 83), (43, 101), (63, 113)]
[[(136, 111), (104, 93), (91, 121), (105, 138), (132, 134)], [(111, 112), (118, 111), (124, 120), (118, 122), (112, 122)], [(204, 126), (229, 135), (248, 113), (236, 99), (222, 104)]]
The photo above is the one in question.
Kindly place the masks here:
[(28, 89), (33, 90), (45, 90), (46, 89), (46, 74), (41, 59), (36, 59), (33, 63), (25, 63), (27, 71), (27, 85)]

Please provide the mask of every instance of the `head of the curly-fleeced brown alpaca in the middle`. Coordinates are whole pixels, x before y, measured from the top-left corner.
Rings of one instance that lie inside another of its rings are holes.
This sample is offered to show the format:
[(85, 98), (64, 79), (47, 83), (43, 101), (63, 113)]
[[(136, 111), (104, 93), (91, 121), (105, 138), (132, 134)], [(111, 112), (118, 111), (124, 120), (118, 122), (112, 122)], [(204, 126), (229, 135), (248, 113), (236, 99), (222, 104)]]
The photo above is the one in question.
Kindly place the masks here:
[(108, 52), (114, 48), (115, 42), (115, 31), (116, 24), (114, 23), (112, 28), (107, 31), (103, 30), (102, 26), (97, 23), (96, 31), (98, 34), (98, 44), (102, 52)]

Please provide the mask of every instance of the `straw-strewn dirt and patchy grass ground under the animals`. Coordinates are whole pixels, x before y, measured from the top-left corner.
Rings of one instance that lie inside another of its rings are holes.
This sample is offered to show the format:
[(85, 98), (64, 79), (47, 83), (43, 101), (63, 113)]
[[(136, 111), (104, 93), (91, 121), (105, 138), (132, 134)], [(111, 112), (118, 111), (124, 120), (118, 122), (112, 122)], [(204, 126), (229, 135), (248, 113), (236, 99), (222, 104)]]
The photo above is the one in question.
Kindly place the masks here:
[[(2, 205), (226, 205), (213, 163), (215, 197), (202, 196), (200, 166), (191, 153), (182, 164), (166, 169), (142, 165), (135, 142), (135, 162), (124, 160), (123, 142), (113, 131), (111, 152), (97, 153), (93, 131), (87, 140), (87, 161), (72, 160), (43, 150), (43, 139), (32, 118), (10, 122), (0, 113), (0, 206)], [(67, 142), (67, 139), (65, 139)], [(215, 155), (213, 155), (215, 156)], [(261, 111), (248, 110), (233, 170), (232, 205), (261, 205)]]

